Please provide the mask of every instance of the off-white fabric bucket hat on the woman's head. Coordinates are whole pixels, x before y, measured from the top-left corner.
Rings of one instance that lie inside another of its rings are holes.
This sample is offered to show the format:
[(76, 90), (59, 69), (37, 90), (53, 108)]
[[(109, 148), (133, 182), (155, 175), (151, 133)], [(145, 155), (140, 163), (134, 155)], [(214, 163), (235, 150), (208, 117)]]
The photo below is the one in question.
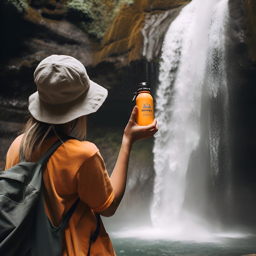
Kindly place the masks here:
[(96, 112), (108, 90), (89, 79), (84, 65), (67, 55), (51, 55), (34, 72), (37, 92), (29, 96), (29, 112), (38, 121), (65, 124)]

